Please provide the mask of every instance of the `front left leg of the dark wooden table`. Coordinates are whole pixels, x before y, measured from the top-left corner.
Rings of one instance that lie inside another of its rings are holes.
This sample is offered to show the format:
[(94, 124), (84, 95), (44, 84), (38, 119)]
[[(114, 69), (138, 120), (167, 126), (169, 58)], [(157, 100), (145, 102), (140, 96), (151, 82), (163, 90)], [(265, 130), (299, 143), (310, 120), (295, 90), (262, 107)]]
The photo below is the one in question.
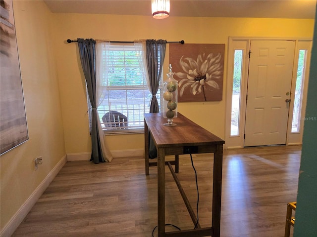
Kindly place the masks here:
[(158, 237), (165, 236), (165, 150), (158, 149)]

